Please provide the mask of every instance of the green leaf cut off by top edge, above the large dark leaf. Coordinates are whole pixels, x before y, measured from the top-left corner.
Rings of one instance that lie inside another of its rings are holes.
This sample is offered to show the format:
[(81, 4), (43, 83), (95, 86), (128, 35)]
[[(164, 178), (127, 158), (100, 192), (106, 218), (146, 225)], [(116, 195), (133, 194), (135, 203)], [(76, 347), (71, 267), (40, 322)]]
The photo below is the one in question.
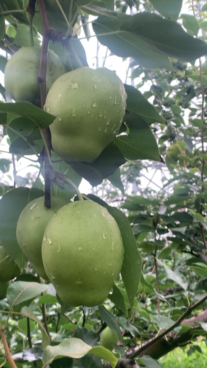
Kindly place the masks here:
[(182, 8), (182, 0), (150, 0), (150, 3), (165, 18), (176, 21)]

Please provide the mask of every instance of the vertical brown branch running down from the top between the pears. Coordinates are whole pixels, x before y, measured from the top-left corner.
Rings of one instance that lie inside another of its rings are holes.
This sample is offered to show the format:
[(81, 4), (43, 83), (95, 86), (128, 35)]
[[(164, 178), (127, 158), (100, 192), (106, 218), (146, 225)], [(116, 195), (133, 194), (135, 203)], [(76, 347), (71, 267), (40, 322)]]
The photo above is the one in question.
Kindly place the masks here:
[[(47, 17), (46, 6), (44, 0), (38, 0), (38, 6), (40, 11), (40, 16), (42, 20), (42, 29), (43, 29), (43, 38), (42, 38), (42, 48), (40, 55), (40, 68), (38, 75), (38, 83), (40, 87), (40, 102), (41, 109), (44, 109), (44, 104), (47, 96), (46, 91), (46, 69), (47, 69), (47, 52), (49, 45), (49, 37), (50, 37), (50, 26), (49, 20)], [(49, 149), (49, 154), (51, 152), (51, 134), (49, 127), (43, 128), (44, 138)], [(46, 148), (44, 147), (44, 206), (47, 208), (51, 207), (51, 180), (50, 180), (50, 162), (47, 156)]]

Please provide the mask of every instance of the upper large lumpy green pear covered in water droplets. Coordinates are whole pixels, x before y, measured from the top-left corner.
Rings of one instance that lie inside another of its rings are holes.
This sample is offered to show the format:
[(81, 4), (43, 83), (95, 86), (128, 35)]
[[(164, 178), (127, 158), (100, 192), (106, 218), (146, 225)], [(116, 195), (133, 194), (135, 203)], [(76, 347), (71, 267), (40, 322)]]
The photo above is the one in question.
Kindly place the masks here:
[(114, 71), (81, 67), (61, 75), (45, 103), (57, 116), (50, 125), (54, 151), (68, 161), (92, 162), (118, 134), (125, 108), (124, 84)]

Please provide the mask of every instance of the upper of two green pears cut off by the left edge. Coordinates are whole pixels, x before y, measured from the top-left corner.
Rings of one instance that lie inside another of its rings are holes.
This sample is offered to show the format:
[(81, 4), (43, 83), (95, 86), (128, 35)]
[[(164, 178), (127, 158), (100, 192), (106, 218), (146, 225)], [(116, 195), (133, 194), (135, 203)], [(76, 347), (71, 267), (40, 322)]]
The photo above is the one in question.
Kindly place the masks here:
[(19, 276), (20, 269), (11, 259), (2, 246), (0, 246), (0, 281), (9, 281)]

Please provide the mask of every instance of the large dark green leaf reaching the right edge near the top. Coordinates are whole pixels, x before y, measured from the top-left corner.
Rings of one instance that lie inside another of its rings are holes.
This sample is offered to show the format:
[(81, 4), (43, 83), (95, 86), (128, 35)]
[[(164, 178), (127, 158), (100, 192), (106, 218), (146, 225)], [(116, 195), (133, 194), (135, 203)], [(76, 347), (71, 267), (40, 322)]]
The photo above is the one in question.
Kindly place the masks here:
[(150, 49), (176, 59), (191, 61), (207, 54), (206, 43), (190, 36), (178, 23), (157, 14), (135, 14), (120, 30), (136, 34)]

